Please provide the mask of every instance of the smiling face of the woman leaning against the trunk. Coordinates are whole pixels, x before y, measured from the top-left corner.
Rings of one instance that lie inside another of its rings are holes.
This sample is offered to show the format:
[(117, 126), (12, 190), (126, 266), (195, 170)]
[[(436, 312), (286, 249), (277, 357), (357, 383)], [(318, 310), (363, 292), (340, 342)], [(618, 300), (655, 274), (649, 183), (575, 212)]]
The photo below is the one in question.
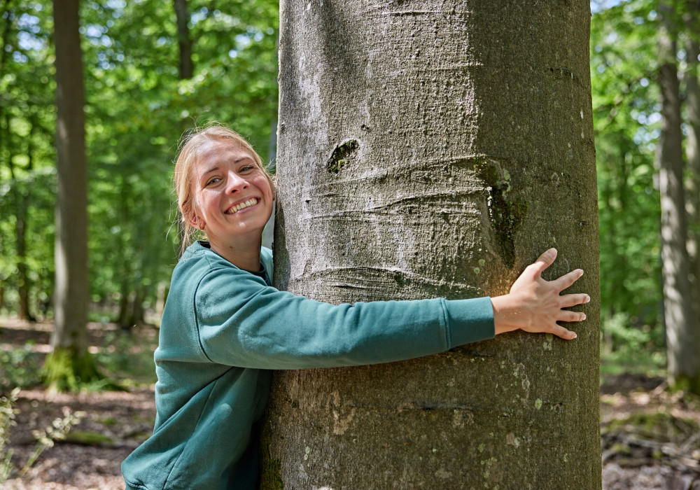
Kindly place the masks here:
[(253, 156), (234, 141), (208, 141), (193, 168), (193, 225), (211, 246), (260, 238), (272, 214), (272, 186)]

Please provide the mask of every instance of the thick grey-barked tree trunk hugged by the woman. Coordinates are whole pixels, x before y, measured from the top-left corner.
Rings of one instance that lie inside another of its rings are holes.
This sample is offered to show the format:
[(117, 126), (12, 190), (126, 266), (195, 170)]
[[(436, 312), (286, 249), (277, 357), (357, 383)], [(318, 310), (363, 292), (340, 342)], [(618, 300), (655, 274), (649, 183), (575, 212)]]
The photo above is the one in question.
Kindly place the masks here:
[[(283, 0), (274, 282), (507, 293), (549, 246), (578, 338), (275, 374), (262, 488), (601, 488), (589, 3)], [(381, 328), (381, 325), (377, 325)]]

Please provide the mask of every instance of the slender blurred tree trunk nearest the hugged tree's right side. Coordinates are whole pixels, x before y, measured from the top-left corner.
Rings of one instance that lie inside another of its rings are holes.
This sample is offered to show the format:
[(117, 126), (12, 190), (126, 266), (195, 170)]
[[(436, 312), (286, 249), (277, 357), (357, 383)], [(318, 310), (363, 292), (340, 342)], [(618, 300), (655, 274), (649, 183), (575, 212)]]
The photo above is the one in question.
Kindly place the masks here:
[[(668, 14), (668, 10), (661, 10)], [(700, 389), (698, 336), (693, 318), (690, 262), (686, 240), (683, 190), (680, 90), (675, 61), (676, 43), (666, 18), (659, 35), (659, 85), (661, 88), (661, 138), (657, 158), (661, 192), (661, 262), (664, 274), (664, 321), (668, 351), (668, 376), (673, 385)]]

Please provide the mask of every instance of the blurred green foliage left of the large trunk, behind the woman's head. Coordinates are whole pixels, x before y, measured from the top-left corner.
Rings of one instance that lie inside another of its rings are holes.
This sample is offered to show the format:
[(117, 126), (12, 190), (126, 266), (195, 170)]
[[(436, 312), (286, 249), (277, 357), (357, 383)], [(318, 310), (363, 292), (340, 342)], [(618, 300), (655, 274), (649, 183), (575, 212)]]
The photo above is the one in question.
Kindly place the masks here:
[[(162, 300), (176, 262), (180, 135), (218, 120), (265, 157), (276, 123), (278, 3), (190, 0), (188, 8), (195, 70), (181, 80), (172, 2), (81, 3), (90, 299), (125, 326)], [(18, 312), (26, 288), (38, 318), (52, 314), (54, 281), (51, 31), (48, 0), (14, 0), (0, 14), (0, 312)]]

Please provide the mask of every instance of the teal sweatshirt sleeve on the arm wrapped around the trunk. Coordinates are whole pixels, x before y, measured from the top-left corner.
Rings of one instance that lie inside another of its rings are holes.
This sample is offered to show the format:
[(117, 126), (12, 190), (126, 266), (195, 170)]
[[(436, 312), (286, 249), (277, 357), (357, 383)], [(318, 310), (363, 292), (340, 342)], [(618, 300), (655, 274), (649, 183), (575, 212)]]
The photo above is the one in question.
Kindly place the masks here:
[(494, 336), (489, 297), (333, 305), (214, 269), (195, 292), (200, 346), (215, 363), (300, 369), (426, 356)]

